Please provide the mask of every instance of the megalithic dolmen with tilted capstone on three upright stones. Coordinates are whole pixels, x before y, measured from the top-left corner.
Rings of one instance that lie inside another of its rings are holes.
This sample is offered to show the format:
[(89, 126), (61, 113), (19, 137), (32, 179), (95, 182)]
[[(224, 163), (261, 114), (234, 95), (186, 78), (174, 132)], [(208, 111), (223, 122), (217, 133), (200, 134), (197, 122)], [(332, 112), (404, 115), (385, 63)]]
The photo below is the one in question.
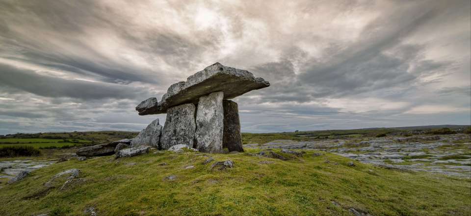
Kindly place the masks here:
[(136, 110), (139, 115), (167, 113), (161, 149), (185, 144), (207, 153), (243, 151), (237, 103), (229, 99), (268, 86), (246, 70), (215, 63), (172, 84), (161, 101), (149, 98)]

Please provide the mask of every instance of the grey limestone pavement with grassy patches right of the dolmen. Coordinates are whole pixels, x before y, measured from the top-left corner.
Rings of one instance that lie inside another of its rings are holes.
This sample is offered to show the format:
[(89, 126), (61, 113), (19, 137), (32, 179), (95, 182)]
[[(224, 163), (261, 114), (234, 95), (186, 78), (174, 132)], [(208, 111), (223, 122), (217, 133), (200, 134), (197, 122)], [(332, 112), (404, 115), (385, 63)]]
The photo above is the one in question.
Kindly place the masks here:
[(274, 140), (247, 144), (258, 149), (317, 149), (391, 169), (425, 171), (471, 178), (470, 135), (345, 138), (322, 141)]

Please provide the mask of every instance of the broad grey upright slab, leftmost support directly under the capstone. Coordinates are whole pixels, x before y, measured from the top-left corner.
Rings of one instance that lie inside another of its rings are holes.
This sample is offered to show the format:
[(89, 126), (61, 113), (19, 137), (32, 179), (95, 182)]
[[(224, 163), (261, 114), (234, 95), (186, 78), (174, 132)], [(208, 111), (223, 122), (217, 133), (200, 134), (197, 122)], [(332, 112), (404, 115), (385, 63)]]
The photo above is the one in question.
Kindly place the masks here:
[(185, 144), (192, 148), (195, 129), (195, 105), (183, 104), (167, 109), (160, 148), (168, 149), (178, 144)]

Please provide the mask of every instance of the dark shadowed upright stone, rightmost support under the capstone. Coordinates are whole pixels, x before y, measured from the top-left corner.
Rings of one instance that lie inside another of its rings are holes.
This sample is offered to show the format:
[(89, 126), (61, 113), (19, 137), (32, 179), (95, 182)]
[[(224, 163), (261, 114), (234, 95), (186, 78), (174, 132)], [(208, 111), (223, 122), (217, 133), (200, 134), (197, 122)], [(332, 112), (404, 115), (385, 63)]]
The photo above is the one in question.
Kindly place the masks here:
[(230, 152), (243, 152), (242, 135), (240, 134), (239, 109), (234, 101), (224, 100), (224, 135), (222, 147), (228, 148)]

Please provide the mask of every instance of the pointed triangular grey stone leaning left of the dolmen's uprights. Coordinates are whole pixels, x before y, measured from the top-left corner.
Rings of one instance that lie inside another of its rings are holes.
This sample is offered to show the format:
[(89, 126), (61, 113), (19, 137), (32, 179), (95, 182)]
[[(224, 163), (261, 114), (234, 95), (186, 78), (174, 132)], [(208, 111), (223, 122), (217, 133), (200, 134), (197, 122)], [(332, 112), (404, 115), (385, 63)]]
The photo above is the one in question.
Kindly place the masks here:
[(139, 135), (131, 141), (131, 147), (140, 145), (150, 145), (158, 148), (162, 126), (159, 125), (158, 118), (152, 121)]

